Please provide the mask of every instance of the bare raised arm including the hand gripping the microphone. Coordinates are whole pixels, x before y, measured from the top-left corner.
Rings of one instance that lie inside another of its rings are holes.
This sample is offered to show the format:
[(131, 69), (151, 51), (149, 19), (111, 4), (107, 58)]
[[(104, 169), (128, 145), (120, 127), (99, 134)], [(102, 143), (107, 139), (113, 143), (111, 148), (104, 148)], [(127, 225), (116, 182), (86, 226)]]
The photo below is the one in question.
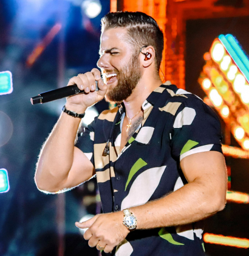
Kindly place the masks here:
[[(95, 91), (95, 80), (98, 80), (99, 91)], [(67, 110), (77, 113), (84, 113), (87, 107), (103, 99), (107, 88), (100, 79), (98, 69), (73, 77), (68, 85), (72, 84), (87, 92), (67, 99)], [(91, 85), (94, 87), (91, 88)], [(90, 160), (74, 146), (79, 124), (80, 118), (61, 114), (39, 155), (35, 182), (40, 190), (56, 192), (72, 188), (95, 174)]]

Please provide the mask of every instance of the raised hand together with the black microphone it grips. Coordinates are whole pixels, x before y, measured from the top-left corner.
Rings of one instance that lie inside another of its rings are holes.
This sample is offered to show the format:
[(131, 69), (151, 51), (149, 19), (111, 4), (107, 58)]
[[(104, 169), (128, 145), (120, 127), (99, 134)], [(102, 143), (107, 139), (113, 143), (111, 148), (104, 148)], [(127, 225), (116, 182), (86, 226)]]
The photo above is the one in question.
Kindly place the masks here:
[(67, 87), (41, 93), (31, 98), (30, 101), (32, 104), (37, 104), (67, 97), (66, 106), (69, 109), (83, 111), (101, 101), (104, 94), (106, 94), (106, 90), (107, 85), (101, 79), (100, 71), (94, 68), (90, 72), (72, 77)]

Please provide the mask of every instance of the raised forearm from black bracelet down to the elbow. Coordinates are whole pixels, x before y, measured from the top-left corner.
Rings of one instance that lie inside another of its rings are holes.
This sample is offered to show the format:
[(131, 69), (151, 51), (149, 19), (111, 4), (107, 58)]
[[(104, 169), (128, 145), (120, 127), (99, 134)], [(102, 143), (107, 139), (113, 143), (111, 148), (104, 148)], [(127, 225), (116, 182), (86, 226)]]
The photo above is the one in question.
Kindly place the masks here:
[(56, 187), (69, 174), (80, 118), (62, 113), (44, 143), (37, 163), (35, 180), (39, 188)]

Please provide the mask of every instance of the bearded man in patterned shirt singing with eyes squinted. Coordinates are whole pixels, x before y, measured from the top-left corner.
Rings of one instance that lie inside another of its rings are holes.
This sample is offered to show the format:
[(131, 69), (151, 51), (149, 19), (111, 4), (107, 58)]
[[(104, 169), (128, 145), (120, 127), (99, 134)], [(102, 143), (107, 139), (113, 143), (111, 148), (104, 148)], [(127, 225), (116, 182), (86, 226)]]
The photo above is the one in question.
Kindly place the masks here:
[[(98, 69), (69, 80), (86, 93), (67, 98), (41, 151), (36, 185), (56, 193), (97, 175), (103, 214), (76, 226), (89, 228), (84, 238), (103, 254), (204, 255), (197, 221), (225, 207), (219, 120), (197, 96), (162, 85), (163, 34), (154, 19), (117, 12), (101, 23), (104, 82)], [(78, 114), (104, 97), (122, 103), (74, 144)]]

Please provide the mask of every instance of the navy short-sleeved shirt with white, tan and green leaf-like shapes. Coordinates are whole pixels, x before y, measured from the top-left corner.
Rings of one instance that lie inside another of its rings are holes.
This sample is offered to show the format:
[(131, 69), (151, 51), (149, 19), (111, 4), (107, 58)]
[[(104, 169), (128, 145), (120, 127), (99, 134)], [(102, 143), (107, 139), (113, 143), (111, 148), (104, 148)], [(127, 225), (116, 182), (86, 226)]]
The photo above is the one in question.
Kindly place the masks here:
[[(187, 183), (180, 169), (183, 158), (222, 152), (219, 119), (194, 94), (163, 84), (142, 108), (143, 122), (121, 152), (123, 105), (102, 112), (78, 138), (76, 146), (95, 167), (103, 213), (143, 205), (178, 190)], [(108, 255), (205, 255), (202, 232), (199, 222), (135, 230)]]

